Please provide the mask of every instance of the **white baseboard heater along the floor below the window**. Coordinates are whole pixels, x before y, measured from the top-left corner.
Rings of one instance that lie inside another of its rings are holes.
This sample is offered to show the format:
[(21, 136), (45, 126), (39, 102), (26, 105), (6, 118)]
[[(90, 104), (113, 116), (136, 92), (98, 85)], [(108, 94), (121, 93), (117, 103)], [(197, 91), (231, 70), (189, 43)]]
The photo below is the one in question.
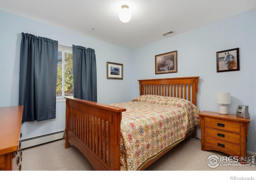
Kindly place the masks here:
[(63, 134), (64, 134), (64, 131), (60, 131), (60, 132), (54, 132), (54, 133), (51, 133), (51, 134), (46, 134), (46, 135), (43, 135), (43, 136), (37, 136), (37, 137), (34, 137), (34, 138), (20, 140), (21, 149), (24, 150), (24, 149), (27, 149), (27, 148), (32, 148), (34, 146), (38, 146), (40, 144), (45, 144), (45, 143), (48, 143), (48, 142), (63, 139)]

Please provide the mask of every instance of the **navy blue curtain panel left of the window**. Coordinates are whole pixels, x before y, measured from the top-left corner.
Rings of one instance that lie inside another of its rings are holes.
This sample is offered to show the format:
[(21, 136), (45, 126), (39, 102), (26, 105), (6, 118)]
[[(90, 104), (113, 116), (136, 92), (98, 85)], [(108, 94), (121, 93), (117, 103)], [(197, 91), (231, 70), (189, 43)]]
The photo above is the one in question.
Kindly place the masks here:
[(22, 32), (19, 105), (22, 123), (56, 118), (58, 41)]

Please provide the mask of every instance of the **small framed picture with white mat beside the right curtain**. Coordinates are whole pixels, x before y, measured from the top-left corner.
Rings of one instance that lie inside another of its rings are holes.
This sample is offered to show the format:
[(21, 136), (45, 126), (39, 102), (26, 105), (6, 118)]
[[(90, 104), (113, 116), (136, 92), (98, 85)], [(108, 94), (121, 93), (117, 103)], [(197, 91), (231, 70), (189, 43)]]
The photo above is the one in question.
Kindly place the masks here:
[(123, 64), (107, 62), (107, 79), (123, 79)]

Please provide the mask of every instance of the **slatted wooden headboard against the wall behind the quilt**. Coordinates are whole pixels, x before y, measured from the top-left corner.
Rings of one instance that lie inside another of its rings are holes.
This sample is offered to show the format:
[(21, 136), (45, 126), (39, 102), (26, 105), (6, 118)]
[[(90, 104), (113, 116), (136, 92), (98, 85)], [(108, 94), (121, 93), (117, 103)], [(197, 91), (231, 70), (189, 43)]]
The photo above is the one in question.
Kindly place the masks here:
[(140, 83), (140, 95), (152, 94), (183, 98), (196, 105), (198, 79), (199, 76), (138, 80)]

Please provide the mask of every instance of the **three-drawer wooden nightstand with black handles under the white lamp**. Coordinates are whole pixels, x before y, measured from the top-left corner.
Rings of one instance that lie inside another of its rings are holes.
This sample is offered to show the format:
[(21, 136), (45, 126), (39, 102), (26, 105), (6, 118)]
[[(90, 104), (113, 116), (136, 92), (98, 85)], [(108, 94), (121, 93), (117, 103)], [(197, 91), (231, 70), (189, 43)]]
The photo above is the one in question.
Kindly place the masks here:
[(210, 111), (200, 112), (199, 116), (201, 150), (216, 150), (230, 156), (246, 158), (246, 137), (250, 118)]

